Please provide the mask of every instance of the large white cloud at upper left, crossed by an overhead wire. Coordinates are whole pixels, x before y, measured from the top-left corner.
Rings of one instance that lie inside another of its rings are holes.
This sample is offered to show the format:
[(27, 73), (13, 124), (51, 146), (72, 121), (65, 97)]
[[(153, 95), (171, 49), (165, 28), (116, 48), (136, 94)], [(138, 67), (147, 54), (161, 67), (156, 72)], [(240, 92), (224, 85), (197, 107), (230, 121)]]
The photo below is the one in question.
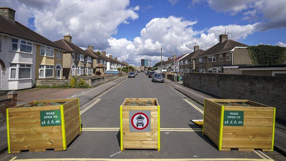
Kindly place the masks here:
[[(16, 21), (27, 26), (29, 18), (35, 18), (36, 24), (77, 2), (79, 0), (15, 0), (13, 3), (4, 0), (1, 6), (15, 9)], [(110, 47), (108, 38), (117, 33), (118, 25), (136, 20), (139, 9), (139, 6), (129, 7), (129, 0), (85, 0), (38, 24), (35, 31), (52, 41), (66, 34), (75, 35), (72, 42), (80, 47), (91, 44), (104, 49)]]

